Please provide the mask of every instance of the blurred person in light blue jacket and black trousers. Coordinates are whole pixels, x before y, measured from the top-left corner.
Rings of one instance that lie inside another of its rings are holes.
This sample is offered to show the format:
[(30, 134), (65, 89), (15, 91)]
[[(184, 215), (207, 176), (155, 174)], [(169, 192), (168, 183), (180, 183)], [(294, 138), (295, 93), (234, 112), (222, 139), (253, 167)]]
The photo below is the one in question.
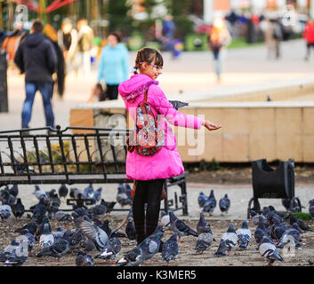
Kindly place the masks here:
[(97, 82), (107, 84), (109, 99), (117, 99), (119, 83), (129, 79), (129, 55), (123, 43), (121, 34), (111, 32), (108, 36), (108, 45), (101, 51), (98, 66)]

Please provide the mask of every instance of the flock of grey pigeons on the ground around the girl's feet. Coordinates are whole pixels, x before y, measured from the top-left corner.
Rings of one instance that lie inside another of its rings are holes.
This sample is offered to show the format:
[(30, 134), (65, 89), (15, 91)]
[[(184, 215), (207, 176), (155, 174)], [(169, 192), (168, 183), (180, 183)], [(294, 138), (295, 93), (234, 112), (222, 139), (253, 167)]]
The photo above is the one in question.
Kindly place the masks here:
[[(94, 258), (100, 258), (106, 264), (117, 266), (138, 266), (149, 261), (158, 253), (161, 253), (165, 264), (175, 261), (179, 256), (178, 242), (185, 236), (195, 237), (195, 253), (203, 254), (211, 248), (213, 237), (210, 224), (205, 220), (205, 213), (210, 215), (216, 207), (213, 190), (207, 197), (199, 193), (198, 205), (202, 208), (196, 230), (187, 225), (177, 217), (172, 210), (167, 213), (161, 210), (160, 223), (154, 233), (147, 237), (140, 244), (134, 245), (132, 249), (125, 251), (120, 256), (123, 248), (121, 238), (125, 238), (128, 245), (136, 240), (135, 227), (133, 224), (132, 195), (131, 187), (127, 184), (119, 184), (117, 187), (117, 201), (104, 201), (101, 199), (101, 187), (93, 189), (88, 185), (84, 191), (71, 188), (68, 191), (66, 185), (60, 185), (58, 193), (55, 189), (44, 192), (38, 185), (35, 185), (33, 193), (38, 203), (30, 208), (32, 215), (30, 221), (14, 232), (19, 236), (14, 238), (3, 251), (0, 252), (0, 262), (4, 265), (22, 265), (33, 256), (32, 251), (36, 243), (41, 251), (35, 254), (36, 257), (54, 257), (58, 260), (65, 255), (75, 255), (76, 266), (93, 266)], [(89, 199), (93, 206), (87, 208), (73, 205), (73, 211), (68, 214), (60, 209), (60, 199), (68, 196), (76, 199)], [(3, 222), (8, 222), (10, 217), (20, 218), (24, 215), (25, 209), (18, 197), (17, 185), (12, 188), (5, 187), (0, 191), (0, 217)], [(97, 202), (98, 205), (96, 204)], [(130, 206), (129, 212), (115, 230), (109, 227), (109, 219), (104, 219), (112, 211), (115, 204), (121, 207)], [(219, 201), (221, 214), (228, 213), (230, 201), (225, 194)], [(310, 215), (314, 218), (314, 200), (310, 201)], [(251, 222), (255, 225), (254, 233), (248, 228), (248, 221), (238, 229), (233, 222), (229, 224), (227, 232), (221, 235), (221, 240), (213, 256), (229, 256), (232, 249), (238, 246), (238, 250), (248, 248), (254, 234), (254, 241), (258, 245), (261, 256), (268, 261), (268, 265), (276, 260), (283, 261), (279, 251), (283, 248), (300, 248), (302, 246), (301, 235), (305, 231), (314, 232), (314, 229), (306, 225), (302, 220), (296, 218), (292, 212), (278, 212), (272, 206), (264, 207), (262, 214), (251, 210)], [(102, 220), (101, 220), (102, 219)], [(104, 219), (104, 220), (103, 220)], [(56, 220), (58, 228), (52, 231), (52, 220)], [(74, 228), (68, 225), (74, 224)], [(125, 232), (121, 229), (125, 226)], [(168, 240), (163, 241), (165, 231), (173, 234)], [(120, 231), (120, 232), (119, 232)], [(92, 256), (90, 252), (97, 251)]]

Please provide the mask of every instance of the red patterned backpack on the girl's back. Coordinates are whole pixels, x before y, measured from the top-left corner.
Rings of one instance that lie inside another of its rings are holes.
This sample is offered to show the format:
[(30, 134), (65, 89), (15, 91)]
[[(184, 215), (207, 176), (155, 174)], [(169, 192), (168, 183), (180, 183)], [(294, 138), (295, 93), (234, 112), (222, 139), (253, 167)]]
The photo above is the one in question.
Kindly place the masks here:
[(148, 91), (136, 108), (135, 130), (126, 141), (128, 152), (135, 150), (142, 156), (156, 154), (165, 144), (165, 131), (157, 126), (152, 107), (147, 102)]

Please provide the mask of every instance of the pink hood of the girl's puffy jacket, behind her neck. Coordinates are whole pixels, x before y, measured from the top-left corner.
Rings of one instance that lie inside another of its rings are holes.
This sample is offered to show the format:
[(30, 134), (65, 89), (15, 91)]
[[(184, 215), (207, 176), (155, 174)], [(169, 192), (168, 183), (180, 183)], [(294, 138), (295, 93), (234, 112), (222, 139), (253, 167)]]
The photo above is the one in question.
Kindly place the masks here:
[(129, 80), (119, 84), (119, 94), (123, 99), (132, 101), (145, 92), (151, 84), (157, 85), (158, 82), (151, 79), (148, 75), (136, 74)]

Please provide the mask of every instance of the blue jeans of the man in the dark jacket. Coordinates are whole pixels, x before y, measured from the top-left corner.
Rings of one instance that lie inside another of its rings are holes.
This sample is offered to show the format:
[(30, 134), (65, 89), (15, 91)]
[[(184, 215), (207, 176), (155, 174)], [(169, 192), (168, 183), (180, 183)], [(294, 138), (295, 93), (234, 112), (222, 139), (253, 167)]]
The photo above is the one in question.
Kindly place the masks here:
[(54, 115), (52, 112), (52, 83), (51, 82), (25, 82), (26, 99), (22, 110), (22, 128), (28, 128), (32, 115), (33, 103), (36, 91), (40, 91), (43, 97), (44, 116), (46, 126), (54, 129)]

